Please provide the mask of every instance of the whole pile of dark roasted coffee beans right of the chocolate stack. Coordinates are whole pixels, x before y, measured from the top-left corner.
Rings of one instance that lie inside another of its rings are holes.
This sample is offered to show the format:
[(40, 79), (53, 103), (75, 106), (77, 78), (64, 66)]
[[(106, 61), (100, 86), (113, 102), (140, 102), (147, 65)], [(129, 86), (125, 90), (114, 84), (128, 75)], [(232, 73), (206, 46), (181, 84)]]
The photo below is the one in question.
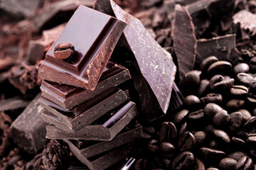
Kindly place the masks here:
[(211, 56), (188, 72), (185, 98), (161, 127), (146, 127), (135, 169), (256, 169), (256, 57), (238, 64)]

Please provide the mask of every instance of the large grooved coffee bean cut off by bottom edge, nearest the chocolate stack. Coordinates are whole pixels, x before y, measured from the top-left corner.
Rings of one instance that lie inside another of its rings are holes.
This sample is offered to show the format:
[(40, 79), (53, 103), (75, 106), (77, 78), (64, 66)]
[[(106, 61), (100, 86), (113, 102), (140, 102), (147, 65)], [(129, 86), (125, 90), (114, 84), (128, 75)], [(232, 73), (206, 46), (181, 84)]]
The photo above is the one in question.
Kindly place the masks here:
[(175, 170), (186, 170), (191, 169), (195, 158), (191, 152), (182, 152), (174, 159), (172, 169)]

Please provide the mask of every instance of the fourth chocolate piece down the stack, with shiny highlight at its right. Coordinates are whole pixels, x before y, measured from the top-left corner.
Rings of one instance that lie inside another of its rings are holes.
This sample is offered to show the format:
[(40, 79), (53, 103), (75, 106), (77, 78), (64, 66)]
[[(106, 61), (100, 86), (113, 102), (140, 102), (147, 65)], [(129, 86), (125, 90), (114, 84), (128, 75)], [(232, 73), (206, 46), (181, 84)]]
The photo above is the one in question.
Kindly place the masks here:
[[(110, 128), (103, 126), (107, 120), (105, 122), (97, 121), (94, 123), (96, 125), (87, 125), (77, 132), (70, 132), (57, 128), (54, 125), (48, 125), (46, 127), (46, 137), (49, 139), (67, 140), (112, 140), (138, 114), (135, 103), (132, 101), (128, 103), (132, 103), (132, 107), (126, 113), (119, 113), (123, 115), (122, 118), (117, 120)], [(101, 120), (104, 120), (104, 118)]]

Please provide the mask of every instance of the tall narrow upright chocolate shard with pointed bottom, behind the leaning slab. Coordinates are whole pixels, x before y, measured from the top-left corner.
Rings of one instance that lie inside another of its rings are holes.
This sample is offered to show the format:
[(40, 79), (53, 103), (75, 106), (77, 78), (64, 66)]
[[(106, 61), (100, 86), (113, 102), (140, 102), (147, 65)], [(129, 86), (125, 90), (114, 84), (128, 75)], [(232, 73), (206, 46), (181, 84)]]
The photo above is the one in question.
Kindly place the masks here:
[(185, 7), (175, 6), (174, 23), (171, 36), (178, 61), (180, 79), (193, 69), (196, 61), (196, 35), (192, 18)]

